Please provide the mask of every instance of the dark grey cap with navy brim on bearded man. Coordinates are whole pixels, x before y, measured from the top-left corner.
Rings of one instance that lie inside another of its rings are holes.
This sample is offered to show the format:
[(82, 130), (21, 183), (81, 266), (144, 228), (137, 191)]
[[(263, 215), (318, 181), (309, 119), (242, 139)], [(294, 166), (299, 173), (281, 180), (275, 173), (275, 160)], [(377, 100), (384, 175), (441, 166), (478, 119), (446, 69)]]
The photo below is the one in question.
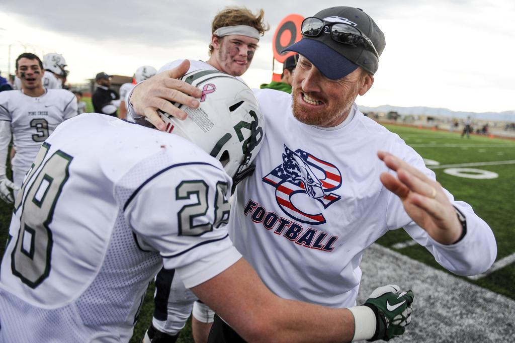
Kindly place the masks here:
[[(331, 7), (318, 12), (314, 16), (328, 22), (337, 20), (351, 22), (370, 39), (377, 50), (377, 54), (381, 55), (385, 48), (386, 41), (383, 32), (372, 18), (360, 8)], [(325, 77), (332, 80), (347, 76), (358, 66), (371, 74), (374, 74), (379, 68), (379, 59), (369, 49), (362, 45), (352, 46), (338, 43), (331, 38), (330, 34), (325, 32), (322, 32), (318, 37), (302, 36), (300, 41), (288, 46), (282, 53), (287, 51), (301, 54), (310, 60)]]

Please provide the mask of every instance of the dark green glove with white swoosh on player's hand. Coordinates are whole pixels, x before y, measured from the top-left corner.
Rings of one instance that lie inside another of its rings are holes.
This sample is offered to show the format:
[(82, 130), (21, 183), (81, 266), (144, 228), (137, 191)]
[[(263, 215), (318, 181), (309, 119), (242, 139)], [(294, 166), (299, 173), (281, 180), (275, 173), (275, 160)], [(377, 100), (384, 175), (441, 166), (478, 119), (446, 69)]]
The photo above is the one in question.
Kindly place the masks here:
[(363, 304), (375, 313), (375, 333), (370, 341), (390, 340), (404, 333), (411, 322), (413, 291), (400, 291), (397, 285), (376, 288)]

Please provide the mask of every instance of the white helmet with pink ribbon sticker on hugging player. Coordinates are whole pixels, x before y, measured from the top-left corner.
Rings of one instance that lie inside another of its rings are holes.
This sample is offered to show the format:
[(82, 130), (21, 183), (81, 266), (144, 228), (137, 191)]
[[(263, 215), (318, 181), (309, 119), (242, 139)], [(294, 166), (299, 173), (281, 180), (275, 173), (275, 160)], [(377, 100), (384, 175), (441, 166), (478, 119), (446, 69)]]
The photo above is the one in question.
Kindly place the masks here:
[(215, 70), (197, 70), (180, 78), (202, 90), (196, 109), (175, 102), (184, 121), (159, 111), (168, 132), (195, 143), (219, 160), (234, 185), (253, 170), (263, 144), (265, 122), (258, 99), (247, 85)]

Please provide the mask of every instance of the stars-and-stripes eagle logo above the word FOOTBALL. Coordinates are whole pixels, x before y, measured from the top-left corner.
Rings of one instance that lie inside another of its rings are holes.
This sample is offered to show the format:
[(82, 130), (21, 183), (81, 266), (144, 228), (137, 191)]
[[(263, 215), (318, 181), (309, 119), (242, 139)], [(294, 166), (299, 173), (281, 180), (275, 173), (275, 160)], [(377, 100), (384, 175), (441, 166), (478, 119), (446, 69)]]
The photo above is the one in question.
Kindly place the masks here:
[(332, 193), (341, 186), (338, 168), (301, 149), (284, 146), (283, 162), (263, 181), (276, 188), (276, 200), (289, 217), (306, 224), (324, 224), (323, 209), (341, 197)]

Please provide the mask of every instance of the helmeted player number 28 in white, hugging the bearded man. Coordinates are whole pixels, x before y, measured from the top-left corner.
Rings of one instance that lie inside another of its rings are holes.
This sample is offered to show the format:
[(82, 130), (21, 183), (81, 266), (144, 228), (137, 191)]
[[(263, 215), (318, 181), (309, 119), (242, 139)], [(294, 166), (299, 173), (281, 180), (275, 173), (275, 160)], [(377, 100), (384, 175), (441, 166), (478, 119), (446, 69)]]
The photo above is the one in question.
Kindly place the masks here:
[(233, 179), (253, 170), (263, 142), (259, 104), (227, 74), (184, 79), (199, 99), (179, 100), (192, 106), (181, 105), (185, 121), (161, 113), (175, 134), (87, 113), (44, 142), (14, 204), (0, 268), (0, 342), (127, 342), (163, 263), (248, 340), (403, 332), (413, 294), (395, 286), (349, 309), (280, 299), (265, 287), (225, 227)]

